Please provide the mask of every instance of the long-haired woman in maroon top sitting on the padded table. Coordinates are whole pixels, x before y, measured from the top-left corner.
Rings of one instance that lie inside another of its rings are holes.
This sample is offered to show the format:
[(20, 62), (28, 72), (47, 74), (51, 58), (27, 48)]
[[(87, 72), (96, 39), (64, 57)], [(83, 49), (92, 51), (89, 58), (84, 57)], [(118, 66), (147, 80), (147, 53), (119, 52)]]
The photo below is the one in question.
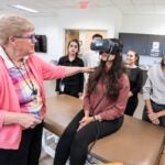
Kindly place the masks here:
[(62, 134), (56, 147), (54, 165), (85, 165), (88, 145), (118, 131), (123, 123), (123, 113), (130, 91), (124, 73), (119, 40), (109, 52), (100, 53), (100, 65), (89, 76), (84, 110), (73, 119)]

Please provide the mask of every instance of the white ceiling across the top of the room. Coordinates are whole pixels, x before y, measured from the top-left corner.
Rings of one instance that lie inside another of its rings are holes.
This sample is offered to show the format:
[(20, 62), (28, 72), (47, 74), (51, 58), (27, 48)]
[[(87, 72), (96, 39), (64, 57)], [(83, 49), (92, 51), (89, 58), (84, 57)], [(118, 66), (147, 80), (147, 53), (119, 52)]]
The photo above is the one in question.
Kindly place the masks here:
[[(1, 13), (26, 13), (14, 8), (12, 4), (22, 4), (41, 11), (37, 14), (54, 14), (59, 9), (77, 9), (80, 1), (87, 1), (89, 8), (116, 7), (122, 13), (163, 13), (165, 0), (0, 0)], [(31, 14), (31, 13), (29, 13)]]

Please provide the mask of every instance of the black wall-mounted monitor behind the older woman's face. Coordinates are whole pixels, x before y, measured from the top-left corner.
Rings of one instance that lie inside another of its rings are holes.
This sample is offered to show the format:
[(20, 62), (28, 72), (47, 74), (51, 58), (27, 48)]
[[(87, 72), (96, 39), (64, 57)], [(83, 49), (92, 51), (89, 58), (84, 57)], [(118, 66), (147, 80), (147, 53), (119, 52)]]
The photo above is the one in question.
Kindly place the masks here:
[(35, 35), (37, 42), (35, 43), (35, 52), (47, 53), (47, 37), (46, 35)]

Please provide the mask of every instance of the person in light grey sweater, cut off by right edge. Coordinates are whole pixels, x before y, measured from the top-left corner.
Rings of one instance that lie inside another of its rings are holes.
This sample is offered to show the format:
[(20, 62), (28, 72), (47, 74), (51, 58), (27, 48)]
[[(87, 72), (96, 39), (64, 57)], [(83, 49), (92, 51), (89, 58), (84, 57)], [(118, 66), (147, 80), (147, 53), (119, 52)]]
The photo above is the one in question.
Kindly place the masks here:
[(165, 55), (161, 64), (150, 68), (143, 96), (145, 107), (142, 119), (165, 127)]

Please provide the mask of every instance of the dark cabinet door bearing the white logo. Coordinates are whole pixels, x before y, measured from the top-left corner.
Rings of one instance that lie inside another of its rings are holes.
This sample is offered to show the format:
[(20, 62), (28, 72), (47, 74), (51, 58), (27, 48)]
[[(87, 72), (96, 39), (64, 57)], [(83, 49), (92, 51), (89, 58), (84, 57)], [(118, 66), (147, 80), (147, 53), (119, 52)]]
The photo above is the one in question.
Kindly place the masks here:
[(163, 52), (163, 35), (147, 35), (146, 55), (158, 57)]

